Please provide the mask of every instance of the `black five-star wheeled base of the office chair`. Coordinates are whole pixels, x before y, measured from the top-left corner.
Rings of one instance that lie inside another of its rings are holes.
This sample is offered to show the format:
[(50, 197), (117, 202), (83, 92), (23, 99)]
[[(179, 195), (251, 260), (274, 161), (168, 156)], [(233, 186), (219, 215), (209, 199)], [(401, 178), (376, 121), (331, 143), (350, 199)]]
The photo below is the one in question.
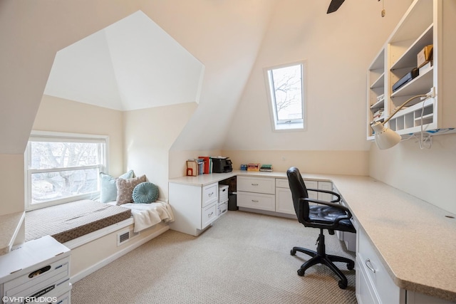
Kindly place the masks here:
[(312, 258), (309, 261), (306, 261), (304, 264), (301, 265), (301, 268), (298, 270), (298, 275), (299, 276), (304, 276), (304, 273), (306, 272), (306, 269), (314, 266), (316, 264), (322, 264), (328, 266), (328, 268), (333, 271), (333, 273), (336, 273), (336, 275), (341, 279), (341, 281), (338, 282), (339, 288), (345, 289), (347, 288), (348, 281), (346, 276), (343, 275), (343, 273), (337, 268), (336, 265), (334, 265), (333, 262), (343, 262), (347, 263), (347, 269), (352, 270), (355, 267), (355, 262), (353, 262), (349, 258), (344, 258), (342, 256), (331, 256), (327, 255), (324, 251), (324, 236), (323, 235), (318, 236), (318, 247), (317, 251), (312, 251), (307, 248), (302, 248), (302, 247), (293, 247), (291, 249), (290, 254), (291, 256), (296, 255), (296, 251), (306, 253), (307, 255), (311, 256)]

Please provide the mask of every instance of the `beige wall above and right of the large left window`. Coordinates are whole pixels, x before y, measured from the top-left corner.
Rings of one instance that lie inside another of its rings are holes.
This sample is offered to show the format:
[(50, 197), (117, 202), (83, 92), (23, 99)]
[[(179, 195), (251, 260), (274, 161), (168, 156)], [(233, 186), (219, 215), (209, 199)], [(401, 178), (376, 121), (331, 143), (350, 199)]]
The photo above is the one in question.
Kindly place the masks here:
[(123, 112), (43, 95), (33, 130), (109, 136), (108, 174), (123, 174)]

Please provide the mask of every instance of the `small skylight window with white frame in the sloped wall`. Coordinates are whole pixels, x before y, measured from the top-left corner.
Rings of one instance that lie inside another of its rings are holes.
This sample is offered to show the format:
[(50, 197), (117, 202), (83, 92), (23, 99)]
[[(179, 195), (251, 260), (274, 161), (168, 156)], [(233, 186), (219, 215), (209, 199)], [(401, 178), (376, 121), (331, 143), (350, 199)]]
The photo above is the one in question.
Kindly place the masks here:
[(274, 130), (304, 130), (304, 62), (265, 69)]

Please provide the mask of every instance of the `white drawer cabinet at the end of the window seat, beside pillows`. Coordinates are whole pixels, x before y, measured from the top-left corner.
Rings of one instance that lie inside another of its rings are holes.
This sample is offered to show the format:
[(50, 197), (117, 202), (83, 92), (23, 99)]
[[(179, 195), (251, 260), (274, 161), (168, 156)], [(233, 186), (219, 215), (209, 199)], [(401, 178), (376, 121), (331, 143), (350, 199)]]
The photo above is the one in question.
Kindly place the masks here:
[(175, 221), (170, 229), (198, 236), (217, 218), (218, 183), (201, 185), (170, 182), (170, 206)]

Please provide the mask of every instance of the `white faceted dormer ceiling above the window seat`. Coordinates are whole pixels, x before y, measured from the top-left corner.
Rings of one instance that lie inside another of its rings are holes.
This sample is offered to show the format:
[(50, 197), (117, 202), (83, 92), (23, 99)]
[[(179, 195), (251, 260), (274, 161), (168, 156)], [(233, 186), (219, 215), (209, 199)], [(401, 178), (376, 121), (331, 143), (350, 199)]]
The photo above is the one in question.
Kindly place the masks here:
[(203, 75), (197, 58), (137, 11), (58, 51), (44, 94), (139, 110), (199, 102)]

